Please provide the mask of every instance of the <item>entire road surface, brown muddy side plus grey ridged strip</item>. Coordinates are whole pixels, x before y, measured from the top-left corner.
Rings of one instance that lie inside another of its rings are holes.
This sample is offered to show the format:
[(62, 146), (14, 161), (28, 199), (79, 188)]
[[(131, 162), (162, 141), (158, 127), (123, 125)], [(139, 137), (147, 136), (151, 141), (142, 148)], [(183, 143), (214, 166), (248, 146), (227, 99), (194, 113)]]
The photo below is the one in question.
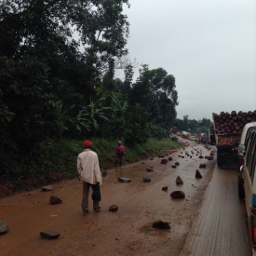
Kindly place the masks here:
[[(80, 206), (82, 182), (76, 179), (51, 184), (53, 191), (38, 189), (1, 199), (0, 221), (9, 226), (0, 236), (1, 255), (249, 255), (245, 209), (236, 196), (236, 170), (216, 168), (215, 159), (198, 157), (200, 150), (209, 155), (204, 144), (189, 145), (166, 152), (165, 158), (172, 157), (167, 164), (160, 164), (162, 158), (155, 156), (108, 170), (101, 185), (101, 212), (93, 212), (89, 198), (87, 216)], [(172, 168), (175, 162), (180, 165)], [(207, 166), (199, 168), (200, 164)], [(151, 167), (155, 171), (146, 170)], [(195, 179), (196, 169), (202, 179)], [(181, 185), (175, 182), (178, 176)], [(119, 182), (121, 177), (131, 182)], [(143, 177), (151, 182), (143, 182)], [(164, 186), (168, 191), (162, 190)], [(176, 190), (183, 191), (185, 198), (172, 199), (170, 193)], [(51, 205), (50, 195), (62, 203)], [(109, 211), (112, 205), (118, 210)], [(157, 220), (168, 222), (170, 229), (153, 228)], [(39, 234), (44, 230), (61, 236), (43, 239)]]

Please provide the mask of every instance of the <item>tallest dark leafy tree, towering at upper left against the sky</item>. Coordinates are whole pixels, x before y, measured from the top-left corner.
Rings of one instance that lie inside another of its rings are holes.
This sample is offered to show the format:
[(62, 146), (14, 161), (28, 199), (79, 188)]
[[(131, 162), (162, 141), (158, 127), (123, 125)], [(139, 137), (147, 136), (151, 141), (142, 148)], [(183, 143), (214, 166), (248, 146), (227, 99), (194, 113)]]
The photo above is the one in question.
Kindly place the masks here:
[(128, 52), (124, 4), (0, 1), (0, 149), (27, 152), (60, 137), (66, 115), (95, 101), (101, 72)]

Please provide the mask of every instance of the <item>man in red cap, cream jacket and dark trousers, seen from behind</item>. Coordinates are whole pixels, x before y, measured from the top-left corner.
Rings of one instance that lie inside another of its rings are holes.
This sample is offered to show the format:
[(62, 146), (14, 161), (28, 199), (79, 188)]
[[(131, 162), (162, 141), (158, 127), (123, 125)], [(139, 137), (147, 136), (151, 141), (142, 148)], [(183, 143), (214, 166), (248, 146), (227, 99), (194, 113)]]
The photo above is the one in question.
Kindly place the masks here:
[[(91, 186), (92, 191), (99, 188), (101, 183), (101, 169), (99, 165), (98, 155), (90, 149), (91, 141), (84, 141), (85, 150), (77, 157), (77, 171), (79, 177), (83, 181), (83, 199), (82, 209), (84, 215), (89, 213), (88, 210), (88, 192)], [(101, 210), (100, 201), (93, 200), (93, 209), (98, 212)]]

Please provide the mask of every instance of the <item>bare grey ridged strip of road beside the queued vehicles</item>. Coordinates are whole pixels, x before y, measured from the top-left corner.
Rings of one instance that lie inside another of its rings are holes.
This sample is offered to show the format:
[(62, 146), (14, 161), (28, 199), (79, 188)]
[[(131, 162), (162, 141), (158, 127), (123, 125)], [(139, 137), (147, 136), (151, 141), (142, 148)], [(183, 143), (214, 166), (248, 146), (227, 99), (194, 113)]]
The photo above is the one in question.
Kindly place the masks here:
[(250, 256), (244, 201), (235, 169), (215, 168), (204, 204), (180, 256)]

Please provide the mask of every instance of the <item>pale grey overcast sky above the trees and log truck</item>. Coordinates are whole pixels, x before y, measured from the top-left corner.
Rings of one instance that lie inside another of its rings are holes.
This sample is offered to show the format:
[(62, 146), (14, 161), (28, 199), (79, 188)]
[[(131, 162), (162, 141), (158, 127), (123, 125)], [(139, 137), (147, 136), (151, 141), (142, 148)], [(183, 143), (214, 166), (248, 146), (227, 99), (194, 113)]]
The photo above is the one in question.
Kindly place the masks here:
[(174, 75), (178, 118), (256, 110), (255, 0), (129, 3), (130, 59)]

